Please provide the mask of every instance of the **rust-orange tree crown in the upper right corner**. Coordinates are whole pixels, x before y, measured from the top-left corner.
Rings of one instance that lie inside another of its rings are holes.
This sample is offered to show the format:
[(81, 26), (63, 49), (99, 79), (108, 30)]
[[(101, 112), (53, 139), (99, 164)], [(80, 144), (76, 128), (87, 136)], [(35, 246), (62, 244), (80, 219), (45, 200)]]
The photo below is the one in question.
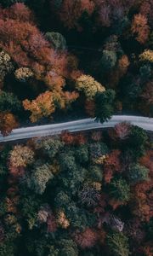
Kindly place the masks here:
[(148, 20), (144, 15), (134, 15), (132, 23), (132, 32), (136, 34), (136, 39), (140, 44), (144, 44), (150, 34), (150, 26), (148, 26)]

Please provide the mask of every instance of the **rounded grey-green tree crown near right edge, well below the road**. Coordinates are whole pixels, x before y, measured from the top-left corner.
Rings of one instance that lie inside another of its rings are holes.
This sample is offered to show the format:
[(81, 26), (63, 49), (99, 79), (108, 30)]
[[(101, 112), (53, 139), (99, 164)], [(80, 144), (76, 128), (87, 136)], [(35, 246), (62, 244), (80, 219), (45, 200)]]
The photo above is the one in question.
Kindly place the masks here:
[(148, 174), (150, 170), (139, 164), (131, 166), (128, 172), (128, 179), (130, 183), (139, 183), (149, 179)]

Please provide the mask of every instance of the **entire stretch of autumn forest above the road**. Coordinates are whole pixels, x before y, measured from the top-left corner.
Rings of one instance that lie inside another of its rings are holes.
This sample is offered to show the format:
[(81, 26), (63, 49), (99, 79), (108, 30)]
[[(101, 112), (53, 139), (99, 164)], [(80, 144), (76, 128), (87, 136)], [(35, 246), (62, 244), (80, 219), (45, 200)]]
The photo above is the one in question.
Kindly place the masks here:
[(33, 123), (153, 116), (152, 0), (0, 4), (3, 136)]

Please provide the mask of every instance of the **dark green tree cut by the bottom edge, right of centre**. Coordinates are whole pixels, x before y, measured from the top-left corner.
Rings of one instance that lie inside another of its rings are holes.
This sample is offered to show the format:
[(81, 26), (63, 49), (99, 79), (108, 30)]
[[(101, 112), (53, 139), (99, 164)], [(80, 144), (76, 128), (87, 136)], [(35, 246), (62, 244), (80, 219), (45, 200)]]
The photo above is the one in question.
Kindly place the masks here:
[(128, 256), (130, 254), (127, 236), (121, 232), (111, 230), (106, 242), (112, 255)]

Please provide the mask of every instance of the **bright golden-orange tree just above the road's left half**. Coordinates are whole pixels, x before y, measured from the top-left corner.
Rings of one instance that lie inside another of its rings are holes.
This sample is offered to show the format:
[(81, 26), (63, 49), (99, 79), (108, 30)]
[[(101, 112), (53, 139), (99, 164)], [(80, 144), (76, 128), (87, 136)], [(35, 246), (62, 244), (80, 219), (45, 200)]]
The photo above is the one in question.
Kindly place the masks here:
[(51, 113), (54, 113), (53, 93), (47, 90), (32, 102), (25, 100), (23, 106), (26, 110), (31, 111), (31, 122), (37, 122), (38, 119), (48, 117)]

